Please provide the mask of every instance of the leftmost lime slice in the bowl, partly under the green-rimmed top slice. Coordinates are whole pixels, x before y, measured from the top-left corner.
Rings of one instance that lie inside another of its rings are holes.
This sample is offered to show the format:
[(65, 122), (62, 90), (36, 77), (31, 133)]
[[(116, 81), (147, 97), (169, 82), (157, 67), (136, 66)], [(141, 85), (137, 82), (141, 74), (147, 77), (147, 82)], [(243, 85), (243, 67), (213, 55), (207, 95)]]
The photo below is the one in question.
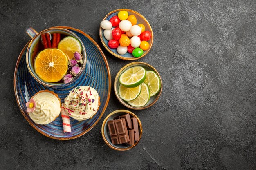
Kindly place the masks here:
[(125, 101), (130, 101), (138, 97), (139, 93), (141, 92), (141, 85), (134, 87), (134, 88), (127, 88), (120, 84), (118, 88), (118, 93), (121, 99)]

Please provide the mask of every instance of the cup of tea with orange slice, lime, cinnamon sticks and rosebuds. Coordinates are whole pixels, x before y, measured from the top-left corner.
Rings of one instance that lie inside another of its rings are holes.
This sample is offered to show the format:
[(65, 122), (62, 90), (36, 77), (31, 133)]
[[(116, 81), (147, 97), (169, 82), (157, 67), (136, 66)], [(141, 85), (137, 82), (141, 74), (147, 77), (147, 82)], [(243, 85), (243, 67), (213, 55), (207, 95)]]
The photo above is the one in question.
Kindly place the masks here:
[(44, 86), (58, 88), (75, 82), (85, 70), (86, 51), (80, 38), (67, 29), (26, 29), (32, 38), (26, 53), (27, 68)]

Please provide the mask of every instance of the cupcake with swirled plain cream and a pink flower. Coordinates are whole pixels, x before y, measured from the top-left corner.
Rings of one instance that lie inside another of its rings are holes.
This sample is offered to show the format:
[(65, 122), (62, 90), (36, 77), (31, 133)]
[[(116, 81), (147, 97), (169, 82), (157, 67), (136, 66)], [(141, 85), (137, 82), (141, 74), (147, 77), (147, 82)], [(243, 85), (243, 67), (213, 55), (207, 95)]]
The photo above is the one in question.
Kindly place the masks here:
[(36, 93), (26, 106), (29, 117), (37, 124), (49, 124), (61, 113), (61, 99), (49, 90)]

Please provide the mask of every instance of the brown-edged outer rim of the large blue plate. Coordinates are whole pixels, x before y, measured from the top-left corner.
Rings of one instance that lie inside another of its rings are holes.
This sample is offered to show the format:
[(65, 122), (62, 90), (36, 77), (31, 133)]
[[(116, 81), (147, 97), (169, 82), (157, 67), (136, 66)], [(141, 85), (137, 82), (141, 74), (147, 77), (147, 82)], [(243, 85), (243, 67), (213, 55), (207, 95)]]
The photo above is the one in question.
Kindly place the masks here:
[(92, 124), (92, 126), (90, 126), (90, 128), (88, 128), (87, 130), (85, 130), (84, 132), (81, 132), (80, 134), (76, 135), (76, 136), (73, 136), (73, 137), (61, 137), (61, 138), (58, 138), (58, 137), (53, 137), (53, 136), (49, 136), (47, 134), (45, 134), (44, 132), (40, 131), (40, 129), (36, 128), (34, 126), (34, 124), (32, 124), (31, 121), (29, 121), (29, 119), (25, 116), (25, 113), (21, 106), (20, 106), (20, 101), (18, 99), (18, 91), (17, 91), (17, 88), (16, 88), (16, 73), (18, 71), (18, 65), (20, 63), (20, 60), (21, 60), (21, 57), (22, 57), (22, 54), (24, 53), (24, 51), (27, 49), (27, 46), (28, 44), (30, 43), (31, 40), (29, 40), (29, 42), (27, 42), (27, 44), (24, 46), (24, 48), (22, 49), (22, 51), (20, 52), (20, 55), (17, 59), (17, 62), (16, 62), (16, 66), (15, 66), (15, 71), (14, 71), (14, 76), (13, 76), (13, 85), (14, 85), (14, 93), (15, 93), (15, 97), (16, 97), (16, 102), (19, 106), (19, 109), (22, 113), (22, 115), (25, 117), (25, 119), (27, 120), (27, 122), (34, 128), (36, 129), (38, 132), (40, 132), (41, 134), (45, 135), (46, 137), (49, 137), (49, 138), (52, 138), (52, 139), (57, 139), (57, 140), (70, 140), (70, 139), (75, 139), (75, 138), (78, 138), (78, 137), (81, 137), (82, 135), (84, 135), (85, 133), (89, 132), (90, 130), (92, 130), (92, 128), (94, 128), (95, 125), (98, 124), (99, 120), (101, 119), (101, 117), (103, 116), (103, 114), (105, 113), (106, 111), (106, 108), (108, 106), (108, 102), (109, 102), (109, 99), (110, 99), (110, 93), (111, 93), (111, 74), (110, 74), (110, 68), (109, 68), (109, 65), (108, 65), (108, 60), (105, 56), (105, 54), (103, 53), (103, 51), (101, 50), (101, 48), (99, 47), (99, 45), (97, 44), (97, 42), (91, 38), (88, 34), (84, 33), (83, 31), (79, 30), (79, 29), (75, 29), (75, 28), (72, 28), (72, 27), (69, 27), (69, 26), (54, 26), (54, 27), (51, 27), (51, 28), (64, 28), (64, 29), (70, 29), (70, 30), (74, 30), (76, 32), (79, 32), (81, 34), (83, 34), (84, 36), (86, 36), (89, 40), (92, 41), (93, 44), (95, 44), (95, 46), (97, 47), (97, 49), (99, 49), (101, 55), (103, 56), (103, 60), (106, 64), (106, 67), (107, 67), (107, 72), (108, 72), (108, 83), (109, 83), (109, 86), (108, 86), (108, 97), (107, 97), (107, 100), (106, 100), (106, 104), (105, 106), (103, 107), (102, 109), (102, 112), (101, 112), (101, 115), (99, 116), (99, 118), (97, 119), (97, 121), (94, 122), (94, 124)]

